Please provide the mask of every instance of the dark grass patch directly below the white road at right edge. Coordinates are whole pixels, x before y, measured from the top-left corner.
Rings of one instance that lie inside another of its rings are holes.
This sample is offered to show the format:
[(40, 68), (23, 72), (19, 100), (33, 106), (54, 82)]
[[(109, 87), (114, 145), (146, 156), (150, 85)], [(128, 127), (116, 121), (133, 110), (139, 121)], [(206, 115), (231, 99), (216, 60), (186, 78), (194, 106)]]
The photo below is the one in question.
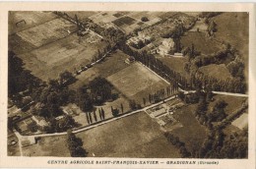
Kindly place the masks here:
[(217, 94), (214, 96), (214, 101), (210, 102), (208, 109), (211, 110), (212, 107), (217, 103), (218, 100), (224, 100), (227, 103), (224, 111), (226, 114), (233, 113), (236, 109), (241, 107), (242, 102), (246, 99), (246, 97), (237, 97), (232, 95), (221, 95)]

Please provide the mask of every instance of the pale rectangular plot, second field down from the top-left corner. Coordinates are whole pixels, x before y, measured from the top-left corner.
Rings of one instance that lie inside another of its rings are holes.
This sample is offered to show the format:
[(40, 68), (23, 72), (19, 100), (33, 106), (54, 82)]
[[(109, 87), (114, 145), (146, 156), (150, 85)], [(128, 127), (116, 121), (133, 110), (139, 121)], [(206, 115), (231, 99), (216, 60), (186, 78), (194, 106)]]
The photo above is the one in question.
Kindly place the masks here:
[(28, 28), (17, 34), (25, 41), (39, 47), (69, 35), (77, 30), (77, 26), (64, 19), (55, 19), (42, 25)]

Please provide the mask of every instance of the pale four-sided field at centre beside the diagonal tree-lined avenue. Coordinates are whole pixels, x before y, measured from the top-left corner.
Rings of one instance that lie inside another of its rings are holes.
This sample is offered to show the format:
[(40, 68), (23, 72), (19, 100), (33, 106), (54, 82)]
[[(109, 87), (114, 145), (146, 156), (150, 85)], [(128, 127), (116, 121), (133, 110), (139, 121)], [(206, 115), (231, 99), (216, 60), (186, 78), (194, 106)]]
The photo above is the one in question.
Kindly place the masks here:
[(142, 102), (143, 97), (148, 98), (149, 93), (168, 86), (149, 69), (137, 62), (107, 77), (107, 80), (125, 96), (135, 99), (137, 102)]

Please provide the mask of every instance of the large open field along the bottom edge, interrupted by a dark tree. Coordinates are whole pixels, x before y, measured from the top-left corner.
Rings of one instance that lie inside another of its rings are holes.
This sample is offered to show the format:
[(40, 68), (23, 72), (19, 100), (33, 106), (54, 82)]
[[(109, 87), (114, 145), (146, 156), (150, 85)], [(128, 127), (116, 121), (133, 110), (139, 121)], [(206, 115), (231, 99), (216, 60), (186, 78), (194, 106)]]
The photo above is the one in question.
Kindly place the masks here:
[[(79, 133), (77, 137), (84, 141), (89, 157), (93, 153), (96, 157), (180, 157), (178, 149), (163, 137), (157, 122), (144, 112)], [(31, 156), (70, 156), (65, 142), (66, 136), (42, 138), (23, 151)]]

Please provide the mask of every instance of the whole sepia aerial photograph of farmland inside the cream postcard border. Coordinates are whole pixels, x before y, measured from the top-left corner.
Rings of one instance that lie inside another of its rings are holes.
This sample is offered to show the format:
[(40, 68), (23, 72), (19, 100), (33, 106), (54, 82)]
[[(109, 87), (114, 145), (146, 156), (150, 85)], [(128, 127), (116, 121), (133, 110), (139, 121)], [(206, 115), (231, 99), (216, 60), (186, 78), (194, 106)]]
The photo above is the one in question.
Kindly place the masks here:
[(246, 12), (9, 11), (8, 156), (248, 158)]

